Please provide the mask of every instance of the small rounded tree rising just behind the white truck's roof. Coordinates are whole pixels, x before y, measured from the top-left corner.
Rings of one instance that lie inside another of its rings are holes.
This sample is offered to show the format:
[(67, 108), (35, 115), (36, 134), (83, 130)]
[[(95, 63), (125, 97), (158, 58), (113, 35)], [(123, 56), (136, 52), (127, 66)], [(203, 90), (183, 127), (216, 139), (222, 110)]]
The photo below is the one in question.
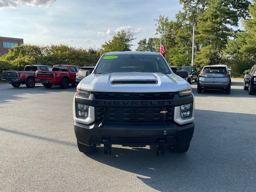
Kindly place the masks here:
[(130, 32), (124, 32), (124, 30), (117, 32), (112, 40), (102, 44), (102, 52), (131, 51), (131, 43), (134, 39)]

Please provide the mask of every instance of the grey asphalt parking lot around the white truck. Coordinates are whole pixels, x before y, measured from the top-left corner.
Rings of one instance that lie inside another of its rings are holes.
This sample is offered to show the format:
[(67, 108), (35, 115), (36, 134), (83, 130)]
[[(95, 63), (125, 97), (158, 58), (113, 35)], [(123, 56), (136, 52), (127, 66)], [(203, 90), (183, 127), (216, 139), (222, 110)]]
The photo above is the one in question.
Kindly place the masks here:
[(193, 93), (195, 132), (186, 154), (114, 146), (85, 156), (73, 130), (76, 88), (0, 84), (0, 191), (256, 191), (256, 95)]

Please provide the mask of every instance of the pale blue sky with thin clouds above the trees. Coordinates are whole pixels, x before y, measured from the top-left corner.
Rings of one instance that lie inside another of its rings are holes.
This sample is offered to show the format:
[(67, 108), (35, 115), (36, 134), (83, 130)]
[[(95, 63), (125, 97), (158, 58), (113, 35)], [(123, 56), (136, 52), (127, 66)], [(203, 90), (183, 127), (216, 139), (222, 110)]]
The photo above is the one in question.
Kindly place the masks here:
[(0, 36), (100, 48), (124, 29), (134, 34), (135, 50), (140, 39), (158, 36), (154, 19), (174, 19), (179, 10), (179, 0), (0, 0)]

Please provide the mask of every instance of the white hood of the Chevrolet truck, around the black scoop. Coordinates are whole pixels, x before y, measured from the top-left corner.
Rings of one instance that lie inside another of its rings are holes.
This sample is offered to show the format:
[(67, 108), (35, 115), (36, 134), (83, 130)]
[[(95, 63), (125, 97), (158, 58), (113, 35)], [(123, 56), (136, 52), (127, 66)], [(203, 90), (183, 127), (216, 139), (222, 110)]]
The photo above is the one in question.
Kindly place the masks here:
[(191, 86), (176, 74), (132, 72), (90, 74), (77, 88), (95, 92), (176, 92)]

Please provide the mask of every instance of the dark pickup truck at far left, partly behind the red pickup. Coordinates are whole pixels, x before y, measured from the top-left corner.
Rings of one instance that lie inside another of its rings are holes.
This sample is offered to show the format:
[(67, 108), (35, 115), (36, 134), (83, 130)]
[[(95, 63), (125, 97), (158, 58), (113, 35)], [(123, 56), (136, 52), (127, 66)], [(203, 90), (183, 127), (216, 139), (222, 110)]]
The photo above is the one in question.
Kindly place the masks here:
[(26, 65), (24, 71), (3, 71), (2, 81), (19, 87), (26, 84), (28, 88), (33, 88), (36, 84), (36, 71), (51, 71), (52, 67), (47, 65)]

